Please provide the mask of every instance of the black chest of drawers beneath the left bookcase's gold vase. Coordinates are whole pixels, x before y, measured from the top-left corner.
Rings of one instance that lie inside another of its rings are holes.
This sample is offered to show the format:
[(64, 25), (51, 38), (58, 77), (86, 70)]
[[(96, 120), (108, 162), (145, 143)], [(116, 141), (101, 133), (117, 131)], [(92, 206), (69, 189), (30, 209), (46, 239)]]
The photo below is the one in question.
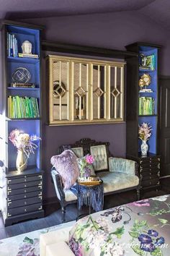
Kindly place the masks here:
[(5, 226), (30, 218), (42, 218), (42, 171), (32, 169), (6, 175)]

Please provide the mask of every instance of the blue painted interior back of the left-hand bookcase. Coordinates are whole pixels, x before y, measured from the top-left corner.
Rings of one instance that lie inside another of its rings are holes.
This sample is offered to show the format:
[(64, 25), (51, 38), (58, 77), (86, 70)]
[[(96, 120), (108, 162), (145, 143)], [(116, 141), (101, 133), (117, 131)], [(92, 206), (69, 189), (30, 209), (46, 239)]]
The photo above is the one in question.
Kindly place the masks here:
[[(22, 43), (24, 40), (29, 40), (32, 43), (32, 54), (37, 54), (40, 57), (40, 30), (19, 27), (14, 25), (6, 26), (7, 32), (14, 34), (17, 38), (18, 52), (22, 53)], [(6, 35), (7, 36), (7, 35)], [(19, 58), (13, 56), (6, 56), (7, 61), (7, 95), (19, 95), (21, 97), (33, 97), (38, 99), (38, 104), (40, 106), (40, 59), (32, 58)], [(29, 83), (34, 83), (35, 88), (12, 88), (10, 84), (14, 82), (12, 80), (12, 74), (19, 68), (26, 68), (31, 75)], [(40, 119), (11, 119), (7, 122), (7, 132), (8, 135), (12, 130), (19, 129), (24, 133), (29, 135), (37, 135), (40, 137)], [(30, 153), (30, 158), (28, 159), (27, 169), (40, 168), (40, 141), (35, 142), (38, 146), (35, 154)], [(8, 167), (11, 171), (16, 171), (16, 158), (17, 158), (17, 148), (14, 147), (12, 142), (8, 140)]]

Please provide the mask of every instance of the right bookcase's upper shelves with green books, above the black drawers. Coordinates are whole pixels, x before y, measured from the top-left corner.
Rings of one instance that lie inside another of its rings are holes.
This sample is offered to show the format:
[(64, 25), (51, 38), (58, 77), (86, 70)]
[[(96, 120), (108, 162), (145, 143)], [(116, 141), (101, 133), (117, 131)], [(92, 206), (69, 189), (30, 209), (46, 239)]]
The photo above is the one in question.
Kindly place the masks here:
[[(138, 53), (138, 58), (126, 59), (127, 155), (138, 157), (138, 153), (141, 152), (138, 126), (143, 123), (152, 127), (151, 137), (147, 140), (148, 154), (158, 153), (158, 51), (160, 47), (149, 43), (133, 43), (126, 46), (128, 51)], [(131, 77), (132, 72), (133, 77)]]

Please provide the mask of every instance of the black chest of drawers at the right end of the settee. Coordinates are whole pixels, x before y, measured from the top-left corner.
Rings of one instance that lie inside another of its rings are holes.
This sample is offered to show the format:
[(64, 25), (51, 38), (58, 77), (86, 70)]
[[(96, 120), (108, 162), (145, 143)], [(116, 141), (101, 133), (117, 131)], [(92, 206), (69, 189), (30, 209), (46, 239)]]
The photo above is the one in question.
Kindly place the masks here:
[(158, 188), (161, 170), (161, 156), (149, 154), (146, 157), (130, 157), (138, 163), (140, 189)]

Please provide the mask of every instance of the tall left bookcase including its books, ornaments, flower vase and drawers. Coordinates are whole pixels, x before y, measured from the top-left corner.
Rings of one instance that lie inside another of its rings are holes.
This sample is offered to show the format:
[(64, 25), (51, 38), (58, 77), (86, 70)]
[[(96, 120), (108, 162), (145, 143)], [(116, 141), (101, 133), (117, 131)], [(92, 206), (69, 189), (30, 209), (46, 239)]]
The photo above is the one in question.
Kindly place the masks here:
[[(19, 212), (21, 207), (17, 208), (17, 206), (12, 208), (11, 213), (6, 204), (9, 200), (7, 187), (11, 179), (15, 181), (23, 179), (24, 183), (14, 182), (17, 187), (34, 186), (36, 191), (40, 189), (42, 192), (41, 29), (38, 26), (20, 22), (4, 21), (3, 24), (4, 155), (2, 157), (5, 166), (5, 183), (2, 212), (7, 226), (28, 218), (40, 218), (44, 214), (42, 197), (38, 198), (38, 207), (35, 210), (29, 210), (29, 213), (25, 213), (27, 209)], [(22, 189), (22, 193), (29, 192), (26, 190)], [(25, 208), (24, 202), (22, 208)]]

